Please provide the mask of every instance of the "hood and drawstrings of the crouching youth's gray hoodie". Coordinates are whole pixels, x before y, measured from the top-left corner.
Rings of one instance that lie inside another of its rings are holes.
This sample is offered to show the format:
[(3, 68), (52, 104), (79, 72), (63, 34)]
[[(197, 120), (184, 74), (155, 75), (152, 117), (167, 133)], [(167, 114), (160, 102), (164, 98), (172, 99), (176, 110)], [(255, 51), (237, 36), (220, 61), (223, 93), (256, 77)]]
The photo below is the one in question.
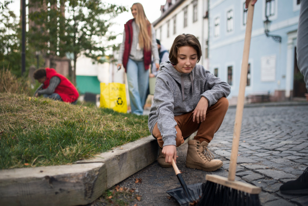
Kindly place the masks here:
[(174, 65), (170, 61), (162, 62), (159, 67), (160, 71), (167, 72), (178, 84), (181, 85), (183, 101), (185, 100), (185, 83), (187, 84), (189, 81), (191, 84), (191, 92), (194, 92), (194, 69), (192, 69), (190, 73), (181, 73), (175, 69)]

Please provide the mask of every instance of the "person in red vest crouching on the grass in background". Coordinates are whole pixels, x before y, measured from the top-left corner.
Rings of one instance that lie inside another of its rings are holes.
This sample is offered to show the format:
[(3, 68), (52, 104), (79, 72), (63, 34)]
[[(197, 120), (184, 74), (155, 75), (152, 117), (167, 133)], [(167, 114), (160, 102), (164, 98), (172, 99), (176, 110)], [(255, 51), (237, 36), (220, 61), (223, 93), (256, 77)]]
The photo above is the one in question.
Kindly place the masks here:
[(76, 103), (79, 93), (76, 87), (62, 74), (53, 68), (40, 68), (33, 73), (33, 78), (42, 83), (42, 90), (35, 93), (35, 97), (43, 95), (45, 98), (63, 102)]

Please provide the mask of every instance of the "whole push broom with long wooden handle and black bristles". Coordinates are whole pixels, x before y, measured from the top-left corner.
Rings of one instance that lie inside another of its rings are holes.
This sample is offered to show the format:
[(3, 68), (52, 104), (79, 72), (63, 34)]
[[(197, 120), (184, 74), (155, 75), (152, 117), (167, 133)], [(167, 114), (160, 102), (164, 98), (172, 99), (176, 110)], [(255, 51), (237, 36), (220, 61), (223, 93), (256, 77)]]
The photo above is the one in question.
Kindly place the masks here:
[(207, 180), (207, 182), (203, 188), (202, 197), (200, 198), (198, 205), (260, 205), (259, 193), (261, 192), (261, 188), (258, 188), (257, 186), (248, 183), (235, 181), (236, 164), (245, 100), (249, 47), (251, 43), (254, 16), (254, 6), (251, 5), (251, 3), (252, 1), (249, 2), (248, 6), (240, 88), (235, 116), (228, 178), (220, 177), (218, 175), (206, 175), (205, 179)]

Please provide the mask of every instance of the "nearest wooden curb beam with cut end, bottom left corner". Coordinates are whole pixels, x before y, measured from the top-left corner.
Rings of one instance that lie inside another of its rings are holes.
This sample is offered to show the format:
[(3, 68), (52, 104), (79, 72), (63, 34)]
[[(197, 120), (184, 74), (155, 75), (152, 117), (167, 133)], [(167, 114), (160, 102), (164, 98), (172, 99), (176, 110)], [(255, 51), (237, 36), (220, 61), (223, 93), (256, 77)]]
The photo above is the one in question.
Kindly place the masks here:
[(104, 163), (0, 171), (0, 205), (80, 205), (107, 189)]

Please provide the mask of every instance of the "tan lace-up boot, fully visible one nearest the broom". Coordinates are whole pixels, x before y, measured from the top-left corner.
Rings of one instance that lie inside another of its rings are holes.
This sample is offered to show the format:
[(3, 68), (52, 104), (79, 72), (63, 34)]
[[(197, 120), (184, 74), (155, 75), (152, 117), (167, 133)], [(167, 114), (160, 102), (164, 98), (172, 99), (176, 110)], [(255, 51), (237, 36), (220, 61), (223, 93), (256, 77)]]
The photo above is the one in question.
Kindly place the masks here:
[(186, 167), (211, 172), (222, 166), (222, 161), (214, 159), (207, 145), (206, 141), (200, 144), (199, 140), (188, 140)]

